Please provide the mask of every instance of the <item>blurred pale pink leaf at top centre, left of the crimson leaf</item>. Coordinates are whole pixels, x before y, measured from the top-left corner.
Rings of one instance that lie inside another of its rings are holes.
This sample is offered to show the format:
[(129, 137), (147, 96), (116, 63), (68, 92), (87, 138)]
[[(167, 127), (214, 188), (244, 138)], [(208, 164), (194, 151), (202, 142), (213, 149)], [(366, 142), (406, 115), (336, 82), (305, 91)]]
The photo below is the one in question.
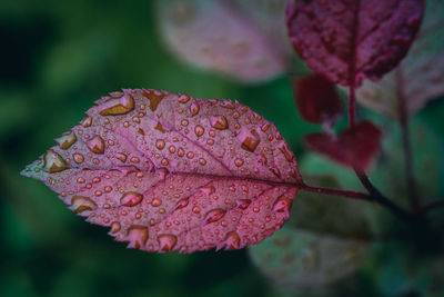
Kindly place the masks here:
[[(245, 82), (285, 71), (284, 0), (159, 0), (160, 34), (185, 62)], [(254, 9), (253, 9), (254, 8)]]

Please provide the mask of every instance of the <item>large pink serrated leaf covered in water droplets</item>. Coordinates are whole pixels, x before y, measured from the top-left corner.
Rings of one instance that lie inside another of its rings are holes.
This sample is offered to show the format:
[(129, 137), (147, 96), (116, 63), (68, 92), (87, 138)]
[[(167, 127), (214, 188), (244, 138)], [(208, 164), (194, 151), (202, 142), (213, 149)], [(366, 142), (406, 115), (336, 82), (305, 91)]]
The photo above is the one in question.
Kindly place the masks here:
[(97, 103), (22, 174), (117, 240), (160, 253), (238, 249), (289, 218), (296, 160), (248, 107), (144, 89)]

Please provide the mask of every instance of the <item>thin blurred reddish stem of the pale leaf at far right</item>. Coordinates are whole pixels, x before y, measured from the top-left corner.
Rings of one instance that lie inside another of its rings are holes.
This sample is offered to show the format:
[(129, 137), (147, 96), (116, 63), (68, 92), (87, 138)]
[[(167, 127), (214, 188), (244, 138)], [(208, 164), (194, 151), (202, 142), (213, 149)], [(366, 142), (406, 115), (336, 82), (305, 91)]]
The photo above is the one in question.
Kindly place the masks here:
[(408, 111), (404, 93), (404, 80), (400, 67), (396, 69), (396, 82), (397, 82), (396, 95), (398, 100), (397, 107), (398, 107), (402, 142), (404, 150), (404, 161), (405, 161), (405, 185), (410, 198), (411, 208), (413, 211), (417, 211), (420, 202), (417, 199), (418, 195), (413, 170), (412, 142), (410, 139), (410, 129), (408, 129)]

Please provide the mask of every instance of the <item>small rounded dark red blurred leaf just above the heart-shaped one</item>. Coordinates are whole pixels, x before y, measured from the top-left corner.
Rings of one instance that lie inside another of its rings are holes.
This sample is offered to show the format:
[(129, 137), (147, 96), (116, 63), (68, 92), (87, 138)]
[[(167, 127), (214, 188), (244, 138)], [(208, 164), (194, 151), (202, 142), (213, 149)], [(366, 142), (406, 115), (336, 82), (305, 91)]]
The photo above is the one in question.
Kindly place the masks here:
[(341, 99), (334, 85), (319, 75), (294, 81), (296, 103), (302, 118), (313, 123), (333, 123), (341, 115)]

